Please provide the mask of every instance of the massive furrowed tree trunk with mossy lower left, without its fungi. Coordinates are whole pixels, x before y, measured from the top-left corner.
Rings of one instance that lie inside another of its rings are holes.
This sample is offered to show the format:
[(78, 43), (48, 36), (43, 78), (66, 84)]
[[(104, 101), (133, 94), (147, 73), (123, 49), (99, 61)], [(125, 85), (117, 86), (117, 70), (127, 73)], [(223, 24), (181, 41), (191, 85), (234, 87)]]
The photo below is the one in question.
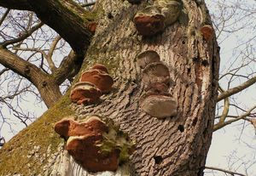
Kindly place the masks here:
[[(67, 93), (3, 147), (0, 175), (87, 175), (63, 150), (63, 142), (52, 128), (54, 122), (69, 114), (79, 118), (106, 116), (137, 141), (128, 171), (120, 167), (112, 175), (203, 175), (212, 139), (219, 64), (216, 38), (207, 41), (199, 31), (208, 18), (204, 3), (183, 1), (179, 20), (154, 37), (139, 36), (132, 22), (144, 3), (99, 0), (96, 5), (102, 7), (102, 14), (83, 69), (95, 63), (106, 65), (114, 77), (113, 90), (102, 96), (100, 103), (85, 106), (68, 105)], [(145, 85), (136, 59), (137, 54), (149, 49), (160, 54), (174, 81), (170, 93), (177, 99), (177, 116), (172, 118), (157, 119), (140, 108)], [(22, 159), (13, 163), (20, 153)]]

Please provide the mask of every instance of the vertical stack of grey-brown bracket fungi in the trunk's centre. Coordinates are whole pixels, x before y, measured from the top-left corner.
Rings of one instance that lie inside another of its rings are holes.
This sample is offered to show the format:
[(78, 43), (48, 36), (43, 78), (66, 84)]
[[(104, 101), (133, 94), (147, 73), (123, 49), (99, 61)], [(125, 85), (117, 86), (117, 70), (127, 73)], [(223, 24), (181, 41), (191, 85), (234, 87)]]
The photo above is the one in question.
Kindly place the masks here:
[(143, 70), (142, 81), (146, 85), (145, 93), (140, 98), (140, 106), (148, 115), (158, 118), (177, 114), (176, 99), (169, 94), (170, 72), (160, 61), (160, 56), (153, 50), (137, 56), (137, 65)]

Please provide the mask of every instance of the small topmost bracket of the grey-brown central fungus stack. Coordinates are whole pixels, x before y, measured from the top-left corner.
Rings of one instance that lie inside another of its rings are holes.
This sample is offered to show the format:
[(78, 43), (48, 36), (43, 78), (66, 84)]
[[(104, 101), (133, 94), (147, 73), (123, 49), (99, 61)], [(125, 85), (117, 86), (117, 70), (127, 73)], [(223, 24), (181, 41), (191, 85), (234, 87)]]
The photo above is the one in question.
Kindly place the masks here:
[(147, 50), (137, 55), (137, 65), (142, 69), (153, 62), (160, 62), (160, 56), (154, 50)]

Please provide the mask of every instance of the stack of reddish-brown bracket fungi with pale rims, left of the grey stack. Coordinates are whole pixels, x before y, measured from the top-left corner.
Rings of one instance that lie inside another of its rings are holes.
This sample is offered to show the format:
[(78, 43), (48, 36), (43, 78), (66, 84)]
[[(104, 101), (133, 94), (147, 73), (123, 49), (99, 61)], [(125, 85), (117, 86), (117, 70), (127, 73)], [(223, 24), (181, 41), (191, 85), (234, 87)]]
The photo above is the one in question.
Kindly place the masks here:
[(113, 85), (113, 78), (104, 65), (96, 64), (84, 71), (79, 82), (74, 84), (70, 98), (74, 103), (95, 103), (102, 94), (108, 93)]

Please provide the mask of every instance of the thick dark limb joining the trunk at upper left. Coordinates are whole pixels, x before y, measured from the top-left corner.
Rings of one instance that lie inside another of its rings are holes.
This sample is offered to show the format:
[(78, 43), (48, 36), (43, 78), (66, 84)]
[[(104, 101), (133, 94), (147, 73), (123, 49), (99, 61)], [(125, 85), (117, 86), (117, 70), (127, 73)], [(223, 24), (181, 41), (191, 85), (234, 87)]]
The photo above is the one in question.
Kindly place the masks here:
[(40, 20), (58, 32), (77, 54), (84, 55), (92, 37), (87, 26), (94, 20), (95, 15), (73, 0), (27, 0), (27, 2)]

